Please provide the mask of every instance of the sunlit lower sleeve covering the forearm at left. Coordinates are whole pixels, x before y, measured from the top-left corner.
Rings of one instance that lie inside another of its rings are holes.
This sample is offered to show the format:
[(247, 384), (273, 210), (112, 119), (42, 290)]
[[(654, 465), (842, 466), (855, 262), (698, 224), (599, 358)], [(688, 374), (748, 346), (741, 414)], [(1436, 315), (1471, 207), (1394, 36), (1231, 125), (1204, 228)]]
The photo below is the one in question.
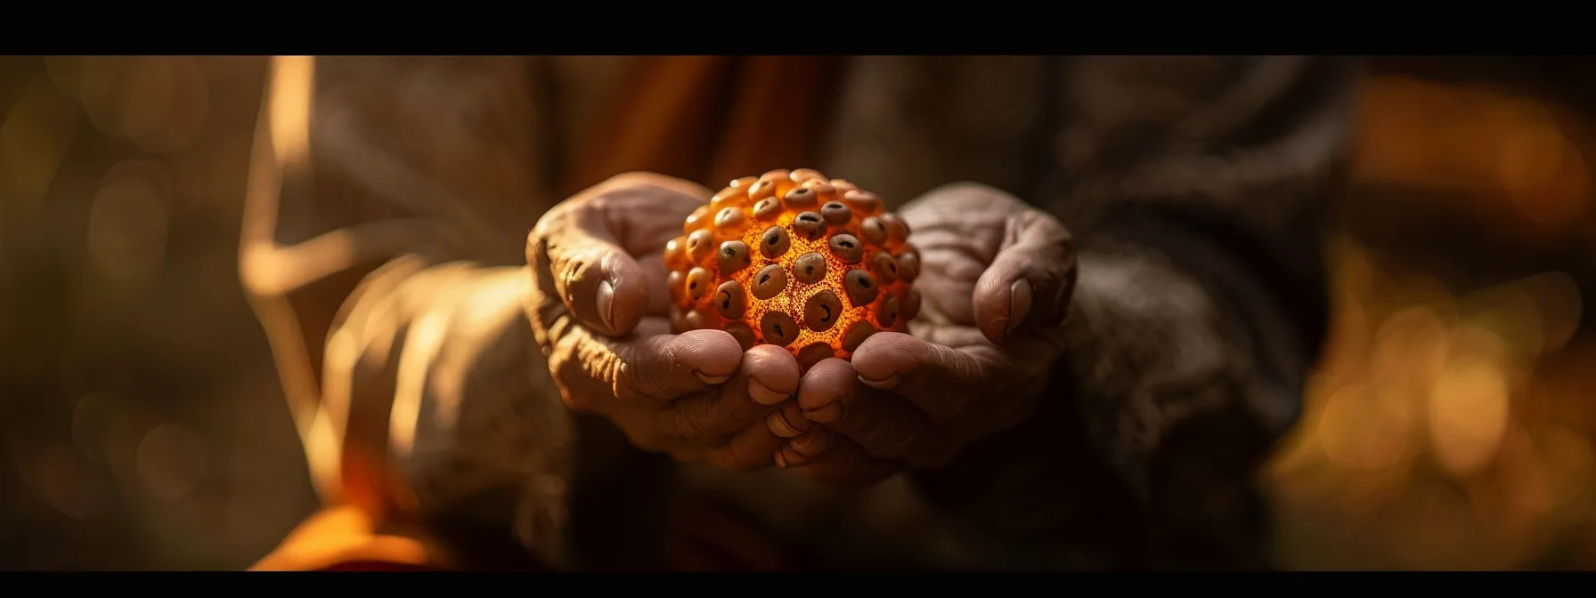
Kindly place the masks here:
[(528, 285), (523, 268), (417, 258), (369, 276), (329, 335), (308, 439), (318, 477), (375, 494), (389, 520), (458, 526), (469, 513), (563, 561), (571, 418), (543, 380)]

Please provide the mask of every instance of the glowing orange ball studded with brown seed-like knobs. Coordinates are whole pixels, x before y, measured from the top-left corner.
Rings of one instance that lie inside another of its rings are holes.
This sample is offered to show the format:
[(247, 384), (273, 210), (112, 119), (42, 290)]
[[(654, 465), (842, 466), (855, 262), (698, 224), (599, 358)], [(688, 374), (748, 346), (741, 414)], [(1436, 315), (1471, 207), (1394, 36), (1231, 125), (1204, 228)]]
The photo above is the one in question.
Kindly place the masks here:
[(777, 344), (808, 368), (905, 332), (919, 257), (884, 201), (812, 169), (726, 183), (664, 247), (672, 327)]

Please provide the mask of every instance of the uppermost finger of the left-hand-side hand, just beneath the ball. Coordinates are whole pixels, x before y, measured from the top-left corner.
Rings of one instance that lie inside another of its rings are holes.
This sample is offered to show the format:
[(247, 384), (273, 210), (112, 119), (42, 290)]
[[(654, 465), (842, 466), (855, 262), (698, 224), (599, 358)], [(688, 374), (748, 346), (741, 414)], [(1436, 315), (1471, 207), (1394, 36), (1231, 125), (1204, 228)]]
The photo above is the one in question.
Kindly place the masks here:
[(742, 364), (742, 346), (721, 330), (689, 330), (616, 341), (578, 329), (587, 343), (575, 359), (584, 375), (610, 384), (629, 403), (669, 405), (675, 399), (729, 380)]

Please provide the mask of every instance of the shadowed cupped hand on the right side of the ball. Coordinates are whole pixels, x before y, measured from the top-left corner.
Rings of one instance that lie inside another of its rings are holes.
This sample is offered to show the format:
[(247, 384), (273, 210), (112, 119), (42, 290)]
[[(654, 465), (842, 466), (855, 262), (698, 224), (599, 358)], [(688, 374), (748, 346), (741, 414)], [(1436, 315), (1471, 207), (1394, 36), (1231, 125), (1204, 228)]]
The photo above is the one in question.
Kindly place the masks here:
[(796, 408), (769, 416), (788, 439), (776, 462), (828, 485), (937, 467), (1021, 424), (1063, 351), (1076, 260), (1058, 220), (974, 183), (937, 188), (900, 214), (922, 269), (913, 335), (878, 333), (852, 364), (816, 364)]

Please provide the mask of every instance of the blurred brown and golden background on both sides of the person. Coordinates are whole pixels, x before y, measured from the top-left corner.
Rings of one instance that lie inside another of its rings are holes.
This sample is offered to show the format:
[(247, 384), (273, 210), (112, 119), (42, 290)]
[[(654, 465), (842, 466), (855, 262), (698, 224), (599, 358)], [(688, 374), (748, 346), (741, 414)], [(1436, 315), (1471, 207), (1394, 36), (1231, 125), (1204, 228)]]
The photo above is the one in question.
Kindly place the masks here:
[[(1596, 61), (1376, 59), (1294, 569), (1596, 569)], [(236, 246), (260, 57), (0, 57), (0, 569), (239, 569), (313, 507)]]

